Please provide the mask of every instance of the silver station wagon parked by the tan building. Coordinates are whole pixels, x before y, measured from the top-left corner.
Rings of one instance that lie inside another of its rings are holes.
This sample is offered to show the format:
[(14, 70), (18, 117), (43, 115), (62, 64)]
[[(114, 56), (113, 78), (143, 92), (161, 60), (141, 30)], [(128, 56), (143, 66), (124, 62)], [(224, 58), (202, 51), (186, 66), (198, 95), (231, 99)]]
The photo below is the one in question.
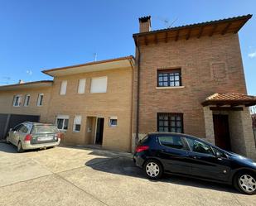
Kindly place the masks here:
[(10, 129), (7, 135), (7, 143), (17, 146), (18, 152), (58, 146), (60, 144), (60, 132), (52, 124), (23, 122)]

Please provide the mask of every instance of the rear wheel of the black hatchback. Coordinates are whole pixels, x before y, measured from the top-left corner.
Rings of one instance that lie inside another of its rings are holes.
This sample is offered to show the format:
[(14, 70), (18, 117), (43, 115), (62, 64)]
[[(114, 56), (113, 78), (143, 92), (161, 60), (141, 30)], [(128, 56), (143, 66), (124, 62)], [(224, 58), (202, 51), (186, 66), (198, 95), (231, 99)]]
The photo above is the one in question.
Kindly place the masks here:
[(157, 160), (147, 160), (143, 166), (143, 170), (148, 179), (158, 180), (162, 176), (162, 165)]

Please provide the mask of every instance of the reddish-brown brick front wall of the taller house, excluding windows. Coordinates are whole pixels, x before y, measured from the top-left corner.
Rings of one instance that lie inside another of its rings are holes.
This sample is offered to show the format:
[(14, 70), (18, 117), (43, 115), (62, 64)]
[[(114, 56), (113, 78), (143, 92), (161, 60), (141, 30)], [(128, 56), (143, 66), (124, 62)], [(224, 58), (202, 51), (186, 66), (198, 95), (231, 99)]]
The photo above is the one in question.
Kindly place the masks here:
[[(157, 113), (183, 113), (184, 132), (205, 137), (200, 103), (213, 93), (246, 93), (237, 34), (158, 42), (140, 50), (139, 133), (157, 131)], [(157, 69), (172, 68), (181, 68), (184, 88), (156, 89)], [(133, 101), (137, 102), (137, 96)]]

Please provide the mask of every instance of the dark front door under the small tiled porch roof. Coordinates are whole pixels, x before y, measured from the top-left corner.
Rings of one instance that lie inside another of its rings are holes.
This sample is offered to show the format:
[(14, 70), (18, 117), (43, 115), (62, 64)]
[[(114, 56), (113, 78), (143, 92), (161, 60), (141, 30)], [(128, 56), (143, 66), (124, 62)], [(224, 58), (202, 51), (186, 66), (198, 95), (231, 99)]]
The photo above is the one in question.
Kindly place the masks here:
[(213, 122), (215, 129), (215, 145), (226, 151), (231, 151), (229, 137), (229, 116), (214, 114)]

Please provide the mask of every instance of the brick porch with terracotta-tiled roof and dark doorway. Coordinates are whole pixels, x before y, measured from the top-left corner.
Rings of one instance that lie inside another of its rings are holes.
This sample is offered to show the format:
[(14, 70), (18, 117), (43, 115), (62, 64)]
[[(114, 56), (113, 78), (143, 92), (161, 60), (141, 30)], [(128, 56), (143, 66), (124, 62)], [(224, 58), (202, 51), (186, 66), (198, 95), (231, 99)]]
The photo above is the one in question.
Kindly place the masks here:
[(256, 98), (240, 93), (215, 93), (202, 103), (205, 137), (222, 149), (256, 160), (249, 106)]

